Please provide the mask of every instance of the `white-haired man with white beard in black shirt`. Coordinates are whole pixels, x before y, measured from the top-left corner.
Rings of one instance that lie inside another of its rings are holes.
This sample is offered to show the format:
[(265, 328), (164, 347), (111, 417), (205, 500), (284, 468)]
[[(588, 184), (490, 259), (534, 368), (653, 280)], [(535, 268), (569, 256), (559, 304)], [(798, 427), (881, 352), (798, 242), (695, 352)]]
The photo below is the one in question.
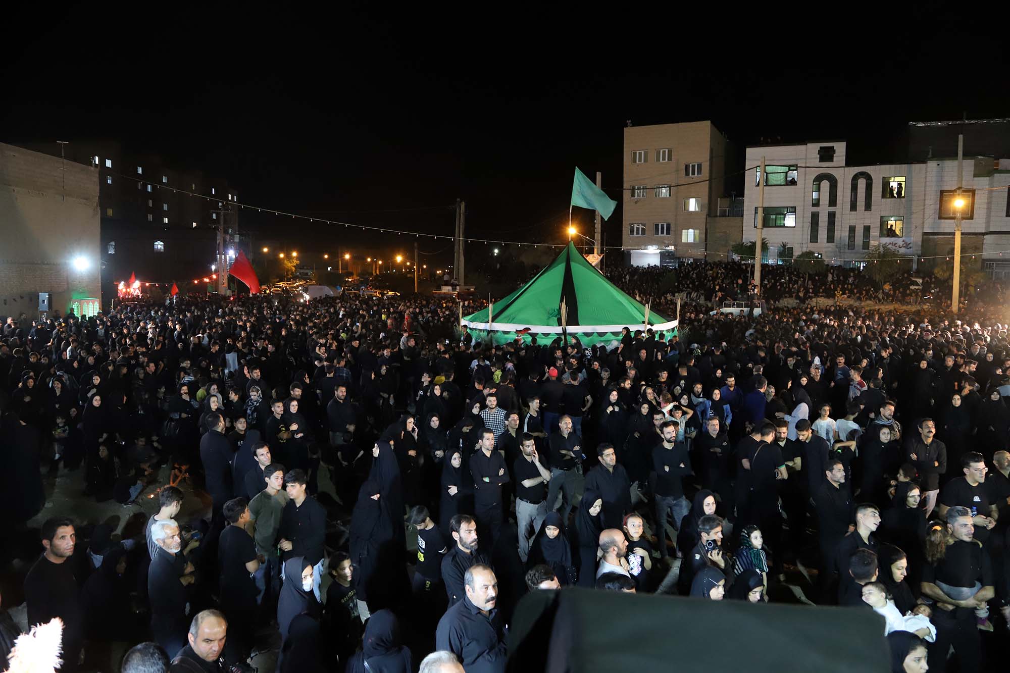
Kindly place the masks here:
[(182, 538), (175, 519), (155, 521), (150, 538), (158, 545), (147, 572), (150, 629), (169, 657), (186, 646), (189, 592), (196, 580), (193, 564), (182, 555)]

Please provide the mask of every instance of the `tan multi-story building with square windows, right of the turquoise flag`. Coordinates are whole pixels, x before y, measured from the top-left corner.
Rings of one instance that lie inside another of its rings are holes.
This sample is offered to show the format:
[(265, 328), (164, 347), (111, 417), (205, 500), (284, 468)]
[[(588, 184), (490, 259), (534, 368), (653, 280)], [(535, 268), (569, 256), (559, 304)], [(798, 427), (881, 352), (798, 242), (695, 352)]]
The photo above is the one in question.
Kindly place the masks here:
[(732, 143), (711, 121), (624, 129), (624, 228), (633, 266), (705, 256), (708, 218), (718, 216)]

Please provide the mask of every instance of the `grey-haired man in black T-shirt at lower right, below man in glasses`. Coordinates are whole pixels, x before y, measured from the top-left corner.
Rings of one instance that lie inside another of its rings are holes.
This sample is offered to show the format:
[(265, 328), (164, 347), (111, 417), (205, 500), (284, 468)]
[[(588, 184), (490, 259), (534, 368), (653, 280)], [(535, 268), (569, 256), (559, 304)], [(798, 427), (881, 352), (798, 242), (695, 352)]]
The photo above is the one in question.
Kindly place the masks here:
[(936, 642), (929, 648), (929, 667), (943, 670), (953, 646), (962, 671), (981, 670), (979, 629), (992, 630), (986, 601), (996, 595), (989, 554), (975, 540), (972, 510), (953, 506), (946, 512), (943, 556), (922, 571), (922, 595), (937, 601), (932, 620)]

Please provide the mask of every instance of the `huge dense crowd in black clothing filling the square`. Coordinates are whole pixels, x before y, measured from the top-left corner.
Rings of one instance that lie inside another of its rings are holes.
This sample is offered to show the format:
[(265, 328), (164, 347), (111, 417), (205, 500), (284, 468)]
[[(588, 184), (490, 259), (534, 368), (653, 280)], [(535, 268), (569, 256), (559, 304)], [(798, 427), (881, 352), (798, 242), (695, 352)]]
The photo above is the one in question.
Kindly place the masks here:
[[(745, 294), (734, 269), (679, 279)], [(680, 338), (491, 346), (459, 310), (179, 296), (8, 318), (4, 535), (54, 476), (157, 502), (129, 536), (42, 523), (27, 619), (63, 619), (63, 670), (140, 643), (123, 671), (267, 650), (281, 673), (503, 671), (518, 600), (566, 586), (854, 605), (895, 671), (982, 670), (1010, 617), (998, 316), (698, 307)]]

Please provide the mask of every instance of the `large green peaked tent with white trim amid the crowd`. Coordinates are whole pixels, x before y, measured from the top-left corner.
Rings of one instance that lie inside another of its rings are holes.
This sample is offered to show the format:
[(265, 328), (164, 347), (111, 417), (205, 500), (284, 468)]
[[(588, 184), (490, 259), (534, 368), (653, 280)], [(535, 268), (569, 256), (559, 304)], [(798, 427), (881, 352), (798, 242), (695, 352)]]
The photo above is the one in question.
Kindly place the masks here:
[[(622, 327), (633, 331), (646, 326), (641, 302), (621, 292), (571, 243), (532, 280), (464, 317), (462, 324), (485, 343), (508, 344), (516, 339), (529, 343), (536, 336), (538, 343), (548, 344), (562, 335), (563, 302), (568, 311), (566, 331), (584, 346), (611, 346), (620, 341)], [(652, 310), (647, 326), (668, 339), (677, 333), (677, 320)]]

